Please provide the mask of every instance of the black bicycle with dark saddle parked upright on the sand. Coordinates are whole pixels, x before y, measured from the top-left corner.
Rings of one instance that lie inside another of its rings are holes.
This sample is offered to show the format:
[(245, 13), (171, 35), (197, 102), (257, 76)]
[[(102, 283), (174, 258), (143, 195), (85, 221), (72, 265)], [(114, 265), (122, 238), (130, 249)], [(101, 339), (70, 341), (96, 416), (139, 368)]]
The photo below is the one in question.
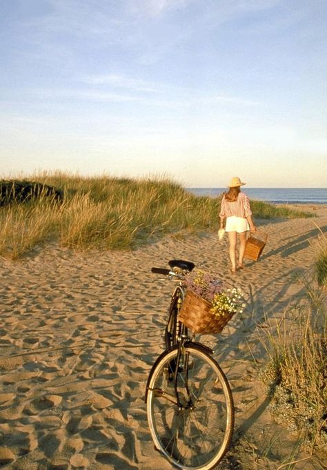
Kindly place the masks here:
[(226, 375), (212, 349), (195, 341), (178, 319), (186, 275), (195, 264), (171, 260), (152, 273), (176, 280), (164, 333), (166, 350), (146, 384), (148, 424), (155, 449), (175, 467), (210, 470), (224, 457), (234, 427), (234, 404)]

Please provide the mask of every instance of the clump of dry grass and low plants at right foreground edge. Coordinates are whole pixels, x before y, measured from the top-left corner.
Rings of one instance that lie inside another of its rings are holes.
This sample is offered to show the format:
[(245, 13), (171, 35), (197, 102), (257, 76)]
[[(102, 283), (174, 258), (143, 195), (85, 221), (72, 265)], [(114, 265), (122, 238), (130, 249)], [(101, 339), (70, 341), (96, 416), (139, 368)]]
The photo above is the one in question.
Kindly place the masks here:
[(306, 291), (306, 303), (266, 318), (260, 340), (268, 360), (261, 378), (276, 420), (301, 431), (313, 453), (327, 445), (327, 315), (326, 292), (316, 277)]

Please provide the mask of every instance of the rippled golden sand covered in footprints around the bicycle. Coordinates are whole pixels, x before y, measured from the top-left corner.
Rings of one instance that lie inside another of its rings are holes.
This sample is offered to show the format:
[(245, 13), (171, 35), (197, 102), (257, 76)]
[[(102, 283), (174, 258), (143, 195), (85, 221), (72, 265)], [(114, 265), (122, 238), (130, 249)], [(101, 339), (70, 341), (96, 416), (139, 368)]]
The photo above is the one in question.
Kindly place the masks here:
[[(55, 245), (1, 260), (0, 467), (17, 470), (168, 470), (153, 447), (144, 393), (172, 284), (150, 273), (184, 259), (245, 294), (244, 319), (206, 337), (235, 400), (235, 435), (221, 470), (277, 469), (297, 433), (271, 418), (258, 379), (265, 315), (304, 302), (327, 206), (310, 219), (257, 220), (268, 233), (258, 262), (232, 276), (228, 241), (179, 234), (135, 251), (72, 253)], [(278, 436), (263, 456), (271, 436)], [(303, 454), (305, 457), (306, 454)], [(295, 469), (314, 470), (310, 461)]]

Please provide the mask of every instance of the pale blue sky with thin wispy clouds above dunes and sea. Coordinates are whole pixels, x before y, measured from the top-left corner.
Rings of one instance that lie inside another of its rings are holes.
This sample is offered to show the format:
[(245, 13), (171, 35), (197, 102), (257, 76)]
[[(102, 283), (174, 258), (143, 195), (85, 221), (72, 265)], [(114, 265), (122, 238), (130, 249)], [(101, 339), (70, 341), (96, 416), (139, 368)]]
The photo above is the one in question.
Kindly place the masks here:
[(326, 0), (0, 0), (1, 177), (327, 186)]

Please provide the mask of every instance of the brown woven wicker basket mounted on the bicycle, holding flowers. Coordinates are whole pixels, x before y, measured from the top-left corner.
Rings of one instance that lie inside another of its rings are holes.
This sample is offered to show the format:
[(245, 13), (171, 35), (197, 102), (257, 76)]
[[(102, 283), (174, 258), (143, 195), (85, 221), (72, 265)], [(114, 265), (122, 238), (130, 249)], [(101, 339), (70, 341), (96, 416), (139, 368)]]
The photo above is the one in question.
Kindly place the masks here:
[(187, 291), (179, 311), (179, 321), (194, 333), (220, 333), (234, 313), (225, 312), (224, 315), (216, 317), (211, 308), (209, 302)]

